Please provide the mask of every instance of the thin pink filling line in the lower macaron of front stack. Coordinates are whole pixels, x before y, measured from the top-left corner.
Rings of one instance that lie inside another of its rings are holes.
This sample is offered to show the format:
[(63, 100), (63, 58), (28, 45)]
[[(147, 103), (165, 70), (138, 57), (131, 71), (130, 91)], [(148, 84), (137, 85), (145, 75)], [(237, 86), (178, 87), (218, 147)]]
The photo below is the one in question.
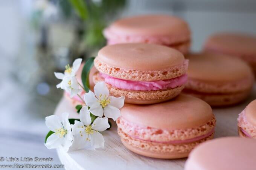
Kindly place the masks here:
[(192, 143), (192, 142), (201, 140), (201, 139), (203, 139), (203, 138), (206, 138), (206, 137), (210, 136), (213, 132), (214, 132), (214, 129), (212, 129), (212, 130), (211, 130), (210, 132), (208, 132), (207, 134), (204, 134), (204, 135), (201, 135), (201, 136), (198, 136), (198, 137), (195, 137), (195, 138), (186, 139), (186, 140), (165, 141), (165, 142), (163, 142), (163, 141), (154, 141), (154, 140), (144, 140), (144, 139), (141, 139), (140, 137), (137, 137), (137, 136), (131, 136), (131, 137), (136, 138), (136, 139), (139, 139), (139, 140), (144, 140), (144, 141), (149, 141), (149, 142), (156, 142), (156, 143), (181, 144), (181, 143)]

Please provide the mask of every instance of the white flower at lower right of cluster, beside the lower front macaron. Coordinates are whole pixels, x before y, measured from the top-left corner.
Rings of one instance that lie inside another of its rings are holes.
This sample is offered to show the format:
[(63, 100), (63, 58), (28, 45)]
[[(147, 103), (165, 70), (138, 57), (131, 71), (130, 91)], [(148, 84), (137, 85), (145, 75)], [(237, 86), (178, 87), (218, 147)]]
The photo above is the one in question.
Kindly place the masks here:
[(74, 135), (73, 149), (96, 149), (104, 147), (104, 138), (100, 133), (110, 127), (108, 118), (97, 117), (91, 124), (90, 111), (87, 106), (81, 108), (79, 113), (80, 121), (75, 120), (72, 126)]

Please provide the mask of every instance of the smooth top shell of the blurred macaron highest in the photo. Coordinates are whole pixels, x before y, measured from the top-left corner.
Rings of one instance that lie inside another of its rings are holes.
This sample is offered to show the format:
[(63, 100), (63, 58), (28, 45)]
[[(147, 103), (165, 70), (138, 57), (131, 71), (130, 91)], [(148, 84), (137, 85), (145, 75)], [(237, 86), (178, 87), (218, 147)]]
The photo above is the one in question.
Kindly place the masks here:
[(124, 18), (114, 22), (110, 29), (117, 34), (139, 36), (190, 33), (185, 21), (168, 15), (142, 15)]

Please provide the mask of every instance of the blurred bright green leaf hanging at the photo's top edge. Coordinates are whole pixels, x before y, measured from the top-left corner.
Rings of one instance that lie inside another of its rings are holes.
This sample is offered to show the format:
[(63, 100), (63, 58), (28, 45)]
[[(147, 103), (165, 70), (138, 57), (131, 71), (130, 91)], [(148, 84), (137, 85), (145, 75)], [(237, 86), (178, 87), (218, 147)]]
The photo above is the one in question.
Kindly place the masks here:
[(82, 20), (87, 20), (88, 18), (88, 8), (87, 4), (84, 0), (69, 0), (73, 8), (75, 9), (76, 13)]

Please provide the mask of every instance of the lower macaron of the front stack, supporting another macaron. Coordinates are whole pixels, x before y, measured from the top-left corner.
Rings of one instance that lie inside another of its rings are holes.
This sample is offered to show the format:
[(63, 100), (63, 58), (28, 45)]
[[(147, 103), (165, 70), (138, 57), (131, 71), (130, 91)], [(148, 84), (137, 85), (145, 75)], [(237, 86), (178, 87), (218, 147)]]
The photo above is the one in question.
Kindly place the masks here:
[(129, 150), (172, 159), (187, 157), (195, 146), (212, 139), (216, 119), (206, 102), (181, 94), (159, 104), (125, 104), (116, 123)]

